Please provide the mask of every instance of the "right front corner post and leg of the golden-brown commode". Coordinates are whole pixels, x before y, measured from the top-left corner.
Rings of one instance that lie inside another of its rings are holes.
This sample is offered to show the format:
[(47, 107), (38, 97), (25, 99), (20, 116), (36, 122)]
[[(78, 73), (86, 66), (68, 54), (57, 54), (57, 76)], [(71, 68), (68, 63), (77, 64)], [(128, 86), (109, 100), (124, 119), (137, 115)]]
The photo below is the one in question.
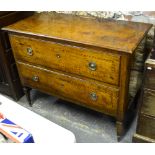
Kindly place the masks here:
[(117, 108), (117, 137), (118, 139), (125, 133), (125, 116), (129, 105), (129, 78), (130, 78), (130, 55), (122, 55), (120, 65), (120, 95)]

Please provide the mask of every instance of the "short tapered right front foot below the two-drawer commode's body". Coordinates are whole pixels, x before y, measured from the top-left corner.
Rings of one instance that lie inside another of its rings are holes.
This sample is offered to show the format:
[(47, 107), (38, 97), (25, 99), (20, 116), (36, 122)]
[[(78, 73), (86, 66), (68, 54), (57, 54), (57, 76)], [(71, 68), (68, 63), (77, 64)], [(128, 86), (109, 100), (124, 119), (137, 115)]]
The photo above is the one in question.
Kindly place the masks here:
[(117, 129), (117, 140), (120, 141), (122, 136), (124, 135), (124, 123), (121, 121), (117, 121), (116, 129)]

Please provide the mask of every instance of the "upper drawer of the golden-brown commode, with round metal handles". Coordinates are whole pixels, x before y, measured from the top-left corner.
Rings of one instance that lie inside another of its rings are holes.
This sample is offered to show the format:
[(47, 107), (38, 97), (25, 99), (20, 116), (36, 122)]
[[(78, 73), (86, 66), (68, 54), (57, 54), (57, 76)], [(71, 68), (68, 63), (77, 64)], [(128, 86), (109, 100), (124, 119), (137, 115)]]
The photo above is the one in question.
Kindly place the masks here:
[(10, 36), (16, 60), (118, 85), (120, 56), (106, 51)]

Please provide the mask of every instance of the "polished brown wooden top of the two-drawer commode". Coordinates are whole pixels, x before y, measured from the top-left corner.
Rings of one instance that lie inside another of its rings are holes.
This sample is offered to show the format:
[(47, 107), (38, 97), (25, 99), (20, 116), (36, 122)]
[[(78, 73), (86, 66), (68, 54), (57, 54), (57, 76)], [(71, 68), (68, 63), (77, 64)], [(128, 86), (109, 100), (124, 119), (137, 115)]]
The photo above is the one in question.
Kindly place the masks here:
[(44, 12), (7, 26), (3, 30), (67, 40), (132, 54), (151, 26), (144, 23), (97, 20)]

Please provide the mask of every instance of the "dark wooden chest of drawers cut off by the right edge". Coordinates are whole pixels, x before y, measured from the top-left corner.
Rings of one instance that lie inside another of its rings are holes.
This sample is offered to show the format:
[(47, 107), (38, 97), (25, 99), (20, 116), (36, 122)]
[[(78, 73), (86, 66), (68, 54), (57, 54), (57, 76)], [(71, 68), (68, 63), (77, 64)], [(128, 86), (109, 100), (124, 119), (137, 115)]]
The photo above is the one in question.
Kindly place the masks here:
[(155, 143), (155, 47), (145, 63), (144, 86), (140, 101), (137, 131), (133, 142)]

